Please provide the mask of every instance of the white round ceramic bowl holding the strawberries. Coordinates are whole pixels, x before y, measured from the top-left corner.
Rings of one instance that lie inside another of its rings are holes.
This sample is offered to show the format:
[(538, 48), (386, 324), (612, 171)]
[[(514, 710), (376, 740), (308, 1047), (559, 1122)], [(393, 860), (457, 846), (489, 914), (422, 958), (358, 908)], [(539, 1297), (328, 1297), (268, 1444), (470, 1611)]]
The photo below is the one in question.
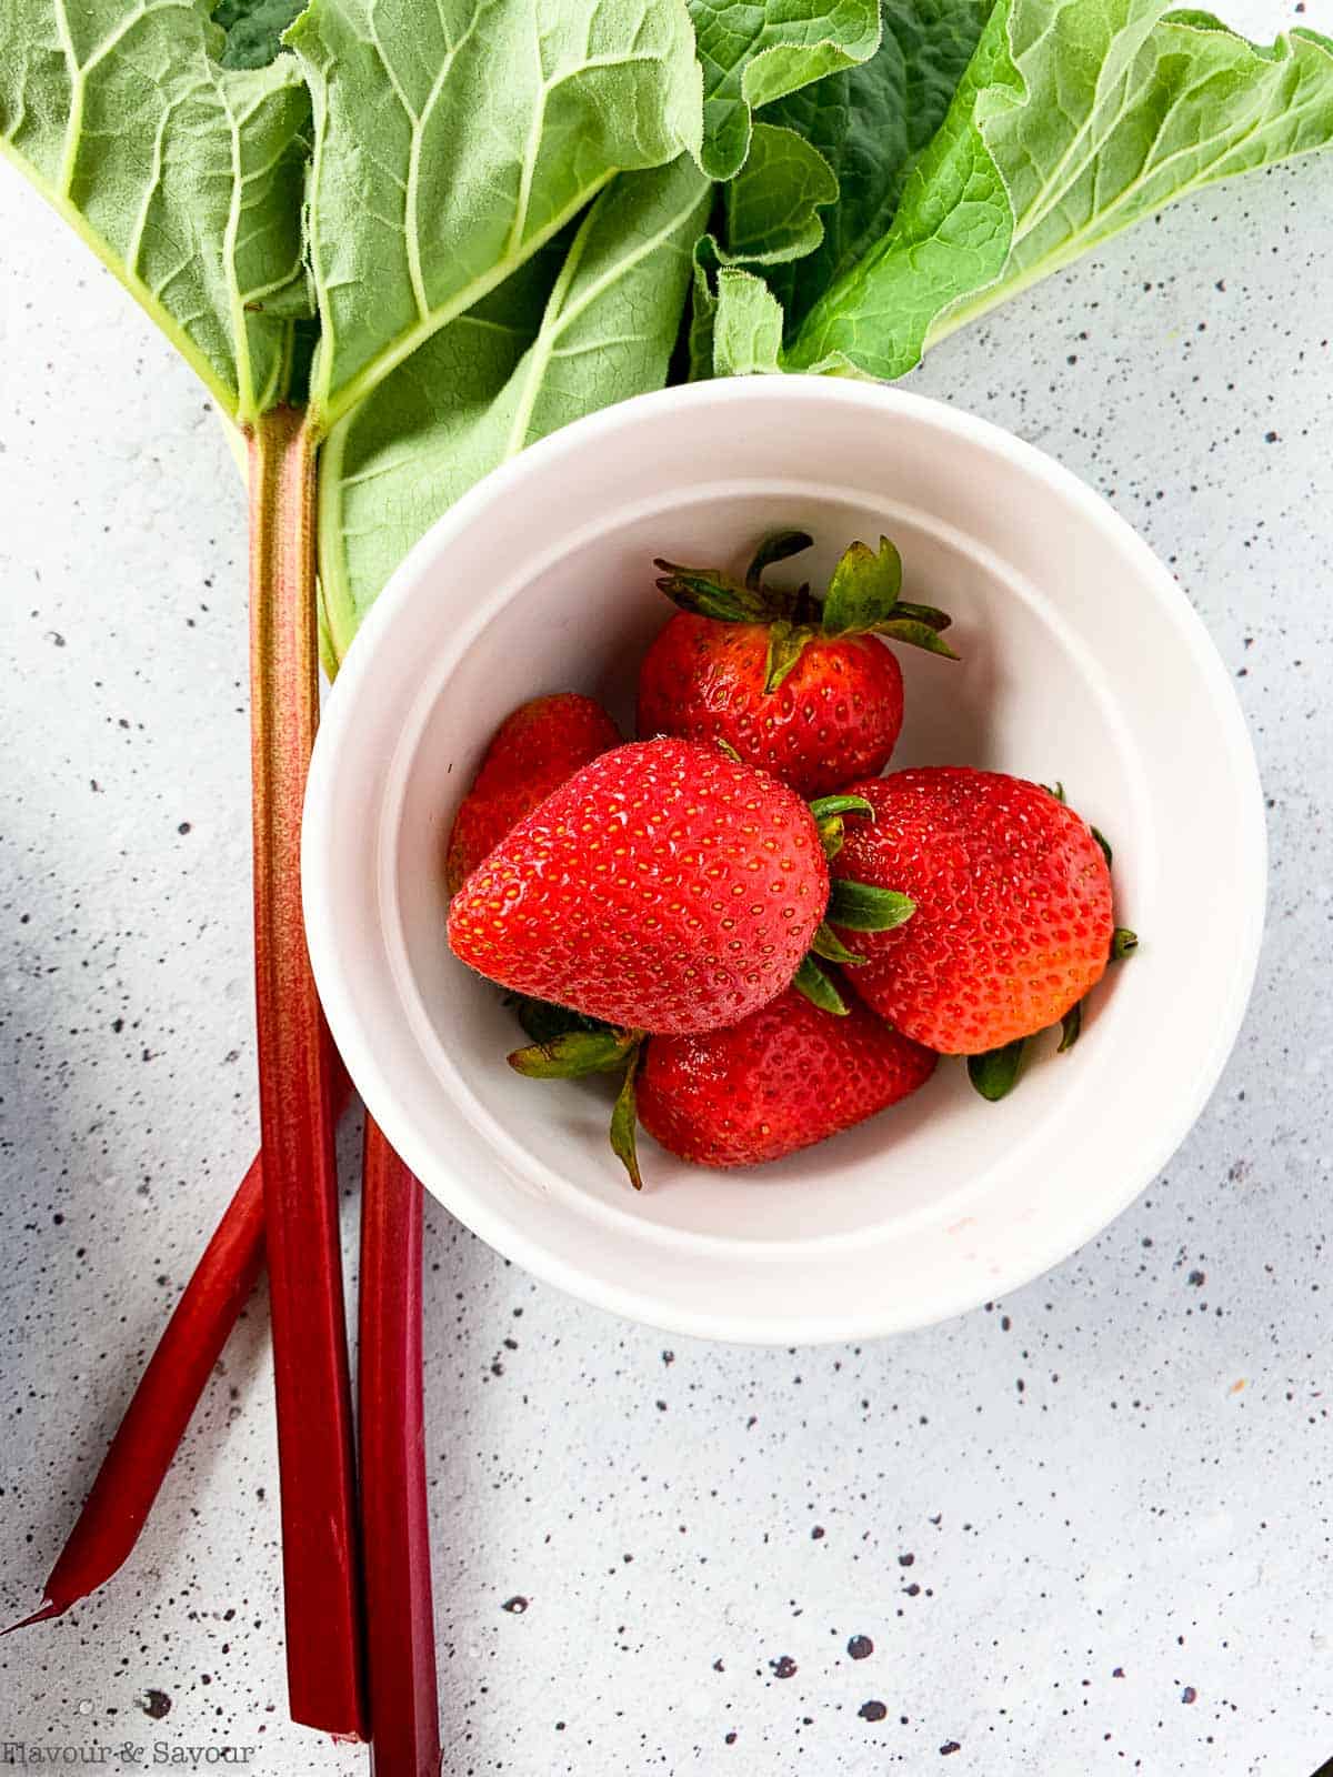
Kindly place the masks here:
[[(1143, 944), (1097, 990), (1079, 1047), (1043, 1056), (1004, 1104), (944, 1063), (901, 1109), (754, 1173), (691, 1169), (642, 1137), (636, 1196), (606, 1146), (603, 1084), (505, 1066), (512, 1015), (444, 942), (443, 846), (515, 704), (581, 689), (629, 718), (638, 657), (668, 615), (654, 554), (741, 563), (778, 526), (818, 538), (803, 574), (853, 537), (898, 542), (906, 595), (953, 611), (963, 663), (899, 650), (894, 764), (1061, 778), (1114, 844), (1118, 919)], [(1217, 1080), (1264, 881), (1228, 675), (1148, 547), (986, 421), (814, 377), (643, 396), (473, 489), (357, 638), (306, 800), (320, 993), (352, 1079), (427, 1189), (574, 1295), (784, 1345), (944, 1319), (1104, 1228)]]

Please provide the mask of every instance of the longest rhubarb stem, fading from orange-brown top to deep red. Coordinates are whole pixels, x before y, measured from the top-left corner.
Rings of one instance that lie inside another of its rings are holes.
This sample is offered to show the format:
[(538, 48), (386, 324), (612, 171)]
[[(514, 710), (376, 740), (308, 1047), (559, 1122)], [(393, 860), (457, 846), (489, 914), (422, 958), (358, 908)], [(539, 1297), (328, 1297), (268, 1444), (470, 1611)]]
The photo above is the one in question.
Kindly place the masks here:
[(251, 432), (254, 983), (291, 1717), (364, 1738), (352, 1386), (329, 1041), (300, 919), (300, 805), (318, 723), (315, 444)]

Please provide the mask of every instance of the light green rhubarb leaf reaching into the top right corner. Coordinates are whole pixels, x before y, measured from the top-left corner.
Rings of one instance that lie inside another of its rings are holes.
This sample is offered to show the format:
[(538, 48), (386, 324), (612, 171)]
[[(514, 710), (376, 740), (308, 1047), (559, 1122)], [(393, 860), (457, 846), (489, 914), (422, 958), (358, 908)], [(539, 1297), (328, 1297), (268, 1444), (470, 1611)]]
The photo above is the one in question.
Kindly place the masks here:
[(892, 227), (787, 368), (901, 377), (926, 345), (1130, 222), (1333, 142), (1333, 44), (1248, 43), (1164, 0), (1001, 0)]

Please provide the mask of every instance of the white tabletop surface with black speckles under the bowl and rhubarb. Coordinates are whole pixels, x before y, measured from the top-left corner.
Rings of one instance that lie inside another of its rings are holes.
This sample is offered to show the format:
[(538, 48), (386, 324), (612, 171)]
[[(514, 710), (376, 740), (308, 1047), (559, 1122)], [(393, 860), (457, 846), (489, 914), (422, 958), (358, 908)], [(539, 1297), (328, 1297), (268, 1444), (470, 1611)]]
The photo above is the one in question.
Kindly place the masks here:
[[(256, 1136), (235, 469), (188, 371), (7, 171), (0, 231), (9, 1619)], [(1237, 673), (1271, 928), (1205, 1118), (1058, 1272), (864, 1349), (672, 1354), (434, 1210), (450, 1777), (871, 1777), (940, 1754), (985, 1777), (1306, 1777), (1333, 1754), (1331, 240), (1328, 162), (1244, 181), (914, 379), (1102, 489)], [(132, 1566), (0, 1642), (0, 1754), (364, 1768), (284, 1722), (263, 1320)]]

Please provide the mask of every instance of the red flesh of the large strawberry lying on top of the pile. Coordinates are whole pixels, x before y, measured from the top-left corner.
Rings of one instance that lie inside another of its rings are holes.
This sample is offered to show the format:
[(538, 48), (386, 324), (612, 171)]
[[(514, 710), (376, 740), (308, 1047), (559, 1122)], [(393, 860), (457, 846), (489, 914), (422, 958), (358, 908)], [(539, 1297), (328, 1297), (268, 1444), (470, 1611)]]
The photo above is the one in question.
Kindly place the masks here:
[(819, 828), (716, 746), (603, 753), (450, 906), (453, 952), (501, 986), (636, 1031), (736, 1024), (793, 979), (825, 915)]

